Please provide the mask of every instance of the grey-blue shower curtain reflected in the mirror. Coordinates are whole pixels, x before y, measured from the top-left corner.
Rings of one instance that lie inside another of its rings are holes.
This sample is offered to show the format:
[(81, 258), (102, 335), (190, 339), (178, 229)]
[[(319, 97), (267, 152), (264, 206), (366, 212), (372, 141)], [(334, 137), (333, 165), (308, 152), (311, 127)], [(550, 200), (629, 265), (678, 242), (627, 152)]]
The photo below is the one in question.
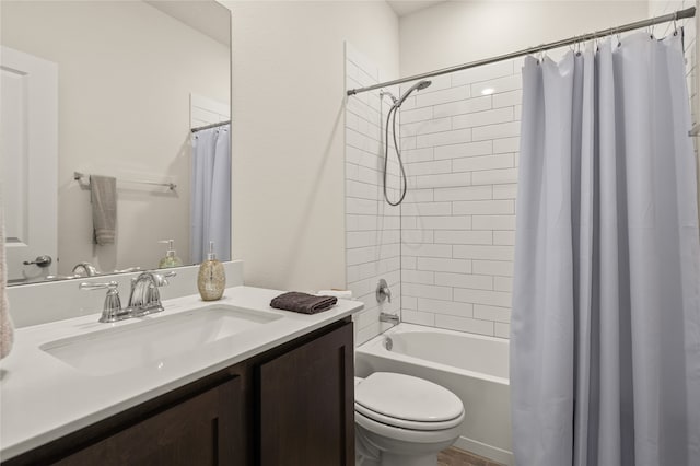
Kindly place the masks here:
[(219, 260), (231, 260), (231, 125), (192, 136), (190, 251), (194, 264), (214, 242)]

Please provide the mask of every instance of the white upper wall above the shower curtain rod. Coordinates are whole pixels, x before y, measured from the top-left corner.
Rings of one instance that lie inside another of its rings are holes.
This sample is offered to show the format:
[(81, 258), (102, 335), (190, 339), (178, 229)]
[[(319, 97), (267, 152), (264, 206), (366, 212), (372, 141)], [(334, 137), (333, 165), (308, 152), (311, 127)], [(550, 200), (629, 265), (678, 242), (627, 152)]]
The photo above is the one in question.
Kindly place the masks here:
[(401, 19), (401, 75), (648, 18), (646, 1), (448, 1)]

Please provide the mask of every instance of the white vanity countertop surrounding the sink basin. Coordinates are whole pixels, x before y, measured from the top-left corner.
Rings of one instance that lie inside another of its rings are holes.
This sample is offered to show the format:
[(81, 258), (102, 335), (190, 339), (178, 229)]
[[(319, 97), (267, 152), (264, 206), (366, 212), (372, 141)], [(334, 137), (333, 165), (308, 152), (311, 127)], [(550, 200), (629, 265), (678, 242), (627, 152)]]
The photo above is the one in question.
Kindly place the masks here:
[(335, 307), (315, 315), (272, 310), (269, 302), (280, 293), (250, 287), (229, 288), (219, 303), (272, 311), (283, 317), (202, 345), (196, 351), (164, 358), (158, 364), (101, 376), (81, 372), (39, 347), (66, 337), (162, 318), (212, 302), (189, 295), (165, 300), (164, 312), (142, 318), (102, 324), (97, 322), (100, 314), (93, 314), (15, 330), (12, 352), (0, 361), (0, 459), (40, 446), (362, 308), (360, 301), (338, 300)]

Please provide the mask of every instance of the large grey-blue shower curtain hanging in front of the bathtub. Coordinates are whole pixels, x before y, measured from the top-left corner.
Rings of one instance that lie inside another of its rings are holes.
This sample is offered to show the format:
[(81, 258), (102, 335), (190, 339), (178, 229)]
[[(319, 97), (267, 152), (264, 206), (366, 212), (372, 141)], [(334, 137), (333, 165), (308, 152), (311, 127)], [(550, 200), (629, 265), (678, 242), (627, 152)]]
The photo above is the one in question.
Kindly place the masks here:
[(527, 58), (511, 339), (518, 466), (700, 465), (681, 32)]

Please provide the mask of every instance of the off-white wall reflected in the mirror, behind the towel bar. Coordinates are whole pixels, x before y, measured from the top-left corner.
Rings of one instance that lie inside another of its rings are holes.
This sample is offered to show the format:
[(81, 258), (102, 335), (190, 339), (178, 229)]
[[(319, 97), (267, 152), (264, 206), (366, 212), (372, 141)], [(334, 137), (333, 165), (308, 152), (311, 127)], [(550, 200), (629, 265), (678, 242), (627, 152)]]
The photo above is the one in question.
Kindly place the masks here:
[[(189, 93), (228, 102), (230, 51), (140, 1), (2, 2), (2, 43), (58, 63), (59, 273), (156, 267), (174, 238), (188, 260)], [(117, 176), (117, 244), (92, 244), (74, 171)], [(173, 179), (166, 188), (119, 179)]]

